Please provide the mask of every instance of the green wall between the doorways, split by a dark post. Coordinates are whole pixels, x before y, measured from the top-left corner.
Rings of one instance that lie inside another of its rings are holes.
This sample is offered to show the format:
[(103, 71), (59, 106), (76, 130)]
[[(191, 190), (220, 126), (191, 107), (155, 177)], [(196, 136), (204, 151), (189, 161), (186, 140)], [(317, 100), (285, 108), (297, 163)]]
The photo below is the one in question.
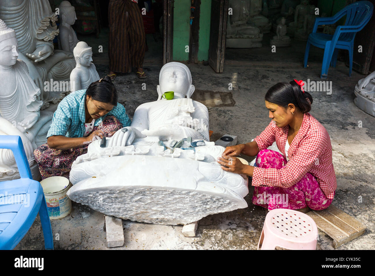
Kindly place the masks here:
[[(189, 60), (185, 46), (189, 45), (191, 0), (174, 1), (173, 10), (173, 60)], [(210, 43), (211, 0), (201, 0), (199, 19), (198, 60), (208, 60)]]

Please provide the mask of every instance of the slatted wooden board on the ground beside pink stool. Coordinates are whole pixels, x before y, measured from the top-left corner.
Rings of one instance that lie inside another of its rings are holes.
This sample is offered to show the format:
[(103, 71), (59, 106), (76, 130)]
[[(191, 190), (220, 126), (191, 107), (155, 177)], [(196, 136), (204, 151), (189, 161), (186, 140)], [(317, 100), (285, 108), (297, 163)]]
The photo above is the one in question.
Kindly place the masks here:
[(310, 211), (307, 215), (314, 219), (321, 231), (333, 238), (332, 246), (334, 248), (354, 240), (366, 230), (366, 226), (362, 222), (333, 205), (325, 210)]

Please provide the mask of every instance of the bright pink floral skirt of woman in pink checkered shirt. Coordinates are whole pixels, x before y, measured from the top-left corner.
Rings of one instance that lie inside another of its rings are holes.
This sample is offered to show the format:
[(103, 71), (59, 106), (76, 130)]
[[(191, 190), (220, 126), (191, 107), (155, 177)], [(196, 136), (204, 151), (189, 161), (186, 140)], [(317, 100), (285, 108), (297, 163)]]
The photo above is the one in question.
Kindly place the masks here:
[[(257, 155), (255, 166), (260, 168), (281, 169), (287, 160), (279, 152), (263, 149)], [(333, 199), (324, 195), (317, 179), (306, 173), (300, 181), (289, 188), (255, 186), (252, 202), (255, 205), (273, 210), (276, 208), (301, 209), (309, 207), (312, 210), (326, 209)]]

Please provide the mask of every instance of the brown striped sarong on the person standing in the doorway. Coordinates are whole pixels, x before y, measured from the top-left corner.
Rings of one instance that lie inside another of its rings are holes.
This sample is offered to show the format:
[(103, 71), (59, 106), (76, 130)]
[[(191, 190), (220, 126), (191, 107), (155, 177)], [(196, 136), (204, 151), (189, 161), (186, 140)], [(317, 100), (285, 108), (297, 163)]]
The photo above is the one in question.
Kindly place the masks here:
[(108, 6), (110, 71), (129, 73), (142, 67), (146, 45), (141, 11), (131, 0), (110, 0)]

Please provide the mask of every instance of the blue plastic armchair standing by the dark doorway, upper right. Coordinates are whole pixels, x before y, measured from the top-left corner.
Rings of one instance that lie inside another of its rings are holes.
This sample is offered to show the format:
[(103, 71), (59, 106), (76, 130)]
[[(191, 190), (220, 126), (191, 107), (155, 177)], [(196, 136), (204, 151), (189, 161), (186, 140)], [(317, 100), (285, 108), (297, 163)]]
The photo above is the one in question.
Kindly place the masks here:
[[(320, 77), (326, 79), (328, 76), (329, 65), (336, 67), (336, 60), (339, 49), (349, 51), (349, 77), (352, 71), (353, 64), (353, 43), (356, 33), (363, 29), (369, 22), (374, 5), (369, 1), (359, 1), (346, 6), (333, 17), (318, 17), (315, 19), (314, 29), (309, 35), (305, 59), (303, 61), (304, 67), (307, 67), (307, 60), (309, 57), (310, 45), (317, 46), (324, 49), (322, 72)], [(319, 25), (334, 24), (339, 21), (344, 15), (347, 16), (344, 26), (336, 27), (334, 35), (325, 33), (317, 33)]]

